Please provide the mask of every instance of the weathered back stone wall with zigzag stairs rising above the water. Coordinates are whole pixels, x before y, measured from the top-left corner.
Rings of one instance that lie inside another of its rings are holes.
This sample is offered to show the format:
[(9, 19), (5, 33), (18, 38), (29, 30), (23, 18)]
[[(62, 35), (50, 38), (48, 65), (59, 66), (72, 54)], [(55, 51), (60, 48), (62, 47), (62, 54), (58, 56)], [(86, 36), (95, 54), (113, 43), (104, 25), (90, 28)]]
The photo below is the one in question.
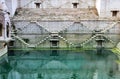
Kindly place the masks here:
[(113, 48), (119, 43), (120, 8), (114, 6), (118, 0), (6, 0), (6, 4), (12, 13), (15, 47)]

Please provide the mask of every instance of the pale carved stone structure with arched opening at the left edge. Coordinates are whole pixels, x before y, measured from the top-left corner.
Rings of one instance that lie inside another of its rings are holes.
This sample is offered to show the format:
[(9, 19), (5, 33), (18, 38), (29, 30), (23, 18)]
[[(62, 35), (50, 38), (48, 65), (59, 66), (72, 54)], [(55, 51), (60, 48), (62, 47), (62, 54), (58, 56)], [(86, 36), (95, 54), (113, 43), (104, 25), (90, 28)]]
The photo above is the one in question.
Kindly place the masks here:
[(7, 42), (10, 40), (9, 11), (4, 0), (0, 1), (0, 57), (7, 53)]

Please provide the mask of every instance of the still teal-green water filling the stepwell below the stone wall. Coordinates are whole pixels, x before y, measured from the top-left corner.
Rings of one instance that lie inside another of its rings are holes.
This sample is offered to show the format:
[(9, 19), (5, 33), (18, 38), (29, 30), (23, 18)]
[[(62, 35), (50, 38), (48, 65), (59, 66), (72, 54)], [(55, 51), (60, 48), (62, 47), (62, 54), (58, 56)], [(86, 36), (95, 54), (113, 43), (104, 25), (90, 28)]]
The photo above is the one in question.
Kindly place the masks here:
[(0, 79), (120, 79), (109, 50), (9, 50)]

